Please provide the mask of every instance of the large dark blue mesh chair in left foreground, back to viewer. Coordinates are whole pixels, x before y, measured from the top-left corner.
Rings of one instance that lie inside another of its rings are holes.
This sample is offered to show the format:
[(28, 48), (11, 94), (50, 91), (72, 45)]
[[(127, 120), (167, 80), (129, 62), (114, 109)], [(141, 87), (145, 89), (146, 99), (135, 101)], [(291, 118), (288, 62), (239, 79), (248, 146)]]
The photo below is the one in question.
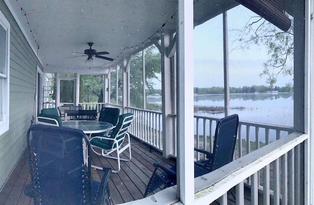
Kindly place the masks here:
[(35, 205), (111, 204), (111, 169), (103, 169), (102, 181), (92, 180), (90, 157), (84, 157), (90, 156), (90, 144), (81, 130), (31, 125), (27, 148), (31, 182), (24, 194), (34, 198)]

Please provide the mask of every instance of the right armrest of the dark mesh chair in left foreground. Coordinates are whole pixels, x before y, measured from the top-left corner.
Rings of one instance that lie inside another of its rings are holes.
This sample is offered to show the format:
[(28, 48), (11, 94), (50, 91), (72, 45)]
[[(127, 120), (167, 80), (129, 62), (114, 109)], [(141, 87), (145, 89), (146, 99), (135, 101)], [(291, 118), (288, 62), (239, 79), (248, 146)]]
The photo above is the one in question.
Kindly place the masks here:
[[(102, 181), (100, 183), (96, 200), (95, 200), (95, 205), (105, 205), (106, 202), (110, 202), (110, 192), (109, 192), (109, 187), (108, 187), (108, 179), (109, 175), (111, 173), (111, 168), (103, 168), (104, 175), (102, 178)], [(110, 203), (107, 203), (110, 204)]]

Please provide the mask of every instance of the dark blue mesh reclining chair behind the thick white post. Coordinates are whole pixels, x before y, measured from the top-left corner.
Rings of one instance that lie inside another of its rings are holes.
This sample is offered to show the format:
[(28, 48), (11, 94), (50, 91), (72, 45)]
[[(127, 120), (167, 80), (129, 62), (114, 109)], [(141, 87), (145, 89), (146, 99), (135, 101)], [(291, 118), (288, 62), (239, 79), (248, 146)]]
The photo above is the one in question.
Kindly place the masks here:
[[(194, 163), (194, 177), (205, 175), (233, 160), (238, 115), (224, 117), (217, 122), (213, 151), (194, 148), (195, 151), (206, 154), (206, 159)], [(160, 163), (154, 163), (155, 170), (146, 187), (144, 197), (156, 189), (164, 189), (177, 184), (177, 167), (167, 168)]]

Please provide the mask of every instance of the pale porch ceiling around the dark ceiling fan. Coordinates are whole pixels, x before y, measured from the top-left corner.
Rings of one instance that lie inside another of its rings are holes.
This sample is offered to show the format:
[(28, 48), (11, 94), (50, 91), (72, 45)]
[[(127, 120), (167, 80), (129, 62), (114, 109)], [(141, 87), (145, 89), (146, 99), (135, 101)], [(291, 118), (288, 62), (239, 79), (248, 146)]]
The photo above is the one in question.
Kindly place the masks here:
[[(234, 0), (194, 0), (194, 23), (204, 23)], [(27, 38), (41, 60), (44, 71), (106, 73), (123, 56), (151, 44), (162, 30), (175, 31), (177, 0), (5, 0), (14, 10)], [(23, 10), (21, 10), (23, 8)], [(26, 15), (25, 15), (26, 14)], [(173, 18), (172, 18), (173, 17)], [(27, 24), (28, 23), (28, 24)], [(163, 24), (165, 24), (163, 26)], [(31, 32), (30, 32), (31, 30)], [(158, 31), (158, 32), (157, 32)], [(35, 42), (36, 41), (36, 42)], [(107, 51), (115, 59), (93, 58), (95, 65), (81, 56), (92, 49)], [(132, 48), (133, 47), (133, 48)], [(73, 55), (73, 52), (78, 52)], [(76, 58), (69, 58), (76, 57)], [(72, 69), (74, 68), (74, 69)], [(90, 69), (89, 69), (90, 68)]]

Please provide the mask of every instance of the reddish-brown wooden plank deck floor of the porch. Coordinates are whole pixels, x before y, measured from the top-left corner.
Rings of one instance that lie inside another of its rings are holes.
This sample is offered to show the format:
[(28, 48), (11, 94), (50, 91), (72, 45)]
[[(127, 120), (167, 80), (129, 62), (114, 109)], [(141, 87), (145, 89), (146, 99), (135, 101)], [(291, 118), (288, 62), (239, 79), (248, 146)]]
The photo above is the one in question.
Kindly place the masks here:
[[(146, 185), (154, 171), (154, 162), (160, 161), (166, 166), (173, 166), (175, 159), (165, 160), (162, 154), (136, 139), (131, 139), (132, 158), (130, 162), (121, 162), (118, 174), (111, 173), (109, 188), (113, 204), (122, 204), (143, 198)], [(127, 153), (128, 154), (128, 153)], [(117, 167), (114, 159), (92, 154), (93, 163), (101, 167)], [(101, 172), (92, 169), (92, 177), (101, 179)], [(24, 195), (23, 190), (30, 181), (27, 151), (23, 154), (16, 168), (0, 192), (0, 205), (32, 205), (31, 198)]]

